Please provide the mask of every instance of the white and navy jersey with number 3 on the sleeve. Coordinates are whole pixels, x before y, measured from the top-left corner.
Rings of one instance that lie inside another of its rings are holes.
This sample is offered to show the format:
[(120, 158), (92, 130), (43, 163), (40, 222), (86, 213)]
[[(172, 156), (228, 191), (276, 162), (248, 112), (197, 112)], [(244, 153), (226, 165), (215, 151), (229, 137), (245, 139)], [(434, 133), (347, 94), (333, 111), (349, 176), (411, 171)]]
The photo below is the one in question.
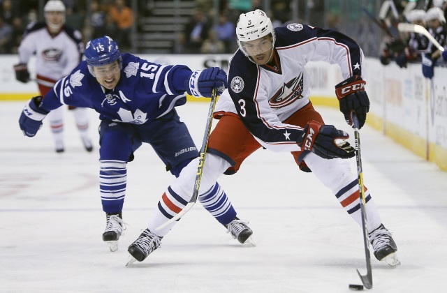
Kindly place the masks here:
[(356, 42), (337, 31), (295, 23), (274, 33), (274, 66), (258, 66), (241, 50), (235, 52), (228, 67), (228, 89), (215, 113), (237, 111), (267, 149), (300, 151), (296, 142), (302, 128), (282, 121), (309, 103), (311, 81), (305, 65), (310, 61), (338, 64), (346, 79), (362, 75), (364, 56)]

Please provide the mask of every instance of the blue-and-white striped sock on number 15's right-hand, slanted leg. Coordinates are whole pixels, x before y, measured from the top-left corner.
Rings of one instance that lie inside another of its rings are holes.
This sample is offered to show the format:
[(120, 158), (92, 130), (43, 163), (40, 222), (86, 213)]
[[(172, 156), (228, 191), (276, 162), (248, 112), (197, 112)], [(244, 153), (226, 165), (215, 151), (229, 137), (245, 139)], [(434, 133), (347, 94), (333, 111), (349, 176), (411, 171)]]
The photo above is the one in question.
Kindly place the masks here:
[(199, 195), (198, 200), (222, 225), (227, 225), (236, 217), (236, 211), (219, 183), (206, 193)]

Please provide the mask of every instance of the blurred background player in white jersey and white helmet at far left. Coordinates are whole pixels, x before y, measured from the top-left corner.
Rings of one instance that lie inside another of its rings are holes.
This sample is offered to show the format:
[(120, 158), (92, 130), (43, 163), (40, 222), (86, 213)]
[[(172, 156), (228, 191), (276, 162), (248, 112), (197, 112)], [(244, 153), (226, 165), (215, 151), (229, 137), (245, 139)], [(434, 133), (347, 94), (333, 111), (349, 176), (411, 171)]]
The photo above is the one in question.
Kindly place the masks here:
[[(60, 0), (45, 4), (45, 22), (35, 22), (27, 27), (18, 48), (19, 63), (14, 66), (15, 77), (20, 82), (29, 82), (27, 64), (31, 55), (36, 54), (36, 82), (41, 96), (50, 91), (54, 83), (68, 75), (81, 61), (84, 51), (80, 31), (66, 26), (65, 6)], [(76, 127), (87, 151), (93, 149), (89, 137), (89, 112), (83, 107), (69, 106), (75, 117)], [(53, 110), (47, 120), (55, 144), (55, 151), (64, 151), (64, 107)]]

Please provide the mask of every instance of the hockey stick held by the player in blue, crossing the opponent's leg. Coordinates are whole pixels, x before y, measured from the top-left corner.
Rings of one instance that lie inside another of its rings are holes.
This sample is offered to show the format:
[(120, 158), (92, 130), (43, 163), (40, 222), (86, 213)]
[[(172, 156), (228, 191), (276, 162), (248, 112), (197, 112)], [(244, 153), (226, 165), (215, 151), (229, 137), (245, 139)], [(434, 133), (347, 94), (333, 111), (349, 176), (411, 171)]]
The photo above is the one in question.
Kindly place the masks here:
[(203, 173), (203, 165), (205, 164), (205, 154), (207, 153), (208, 148), (208, 140), (210, 140), (210, 134), (211, 134), (211, 126), (212, 126), (212, 114), (214, 113), (214, 109), (216, 108), (217, 103), (217, 89), (214, 88), (211, 93), (211, 103), (210, 103), (210, 110), (208, 110), (208, 117), (207, 117), (207, 125), (205, 127), (205, 135), (203, 135), (203, 142), (202, 142), (202, 148), (200, 149), (200, 157), (198, 159), (198, 167), (197, 167), (197, 174), (196, 174), (196, 181), (194, 183), (194, 190), (193, 190), (193, 196), (191, 197), (191, 200), (184, 206), (182, 211), (177, 213), (177, 215), (173, 216), (173, 218), (170, 218), (166, 223), (163, 223), (159, 225), (159, 227), (156, 227), (155, 230), (161, 230), (170, 223), (174, 223), (179, 218), (182, 218), (182, 216), (189, 211), (194, 204), (196, 204), (197, 197), (198, 197), (198, 190), (200, 188), (200, 181), (202, 181), (202, 173)]

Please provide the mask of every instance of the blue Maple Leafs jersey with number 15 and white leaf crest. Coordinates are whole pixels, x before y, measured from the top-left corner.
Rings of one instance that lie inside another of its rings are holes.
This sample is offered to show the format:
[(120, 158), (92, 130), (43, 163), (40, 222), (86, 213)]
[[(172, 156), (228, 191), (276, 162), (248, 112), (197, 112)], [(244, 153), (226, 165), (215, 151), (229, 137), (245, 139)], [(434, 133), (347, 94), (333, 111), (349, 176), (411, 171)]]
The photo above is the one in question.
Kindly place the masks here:
[(184, 81), (191, 73), (183, 65), (160, 65), (122, 54), (121, 78), (115, 89), (108, 90), (89, 73), (87, 61), (82, 61), (54, 84), (41, 108), (54, 110), (63, 104), (89, 107), (100, 119), (147, 123), (186, 103)]

